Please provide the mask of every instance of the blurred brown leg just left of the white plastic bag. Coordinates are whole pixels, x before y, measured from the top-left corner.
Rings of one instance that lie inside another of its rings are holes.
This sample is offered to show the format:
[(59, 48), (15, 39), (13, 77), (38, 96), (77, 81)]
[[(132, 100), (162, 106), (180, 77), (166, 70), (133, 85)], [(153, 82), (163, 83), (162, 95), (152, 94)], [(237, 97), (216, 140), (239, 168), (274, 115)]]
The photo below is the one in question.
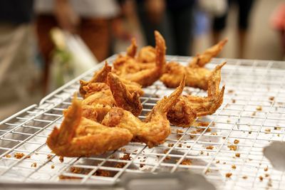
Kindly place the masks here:
[(36, 36), (38, 40), (38, 48), (43, 56), (43, 94), (47, 93), (48, 75), (51, 62), (51, 51), (53, 50), (53, 42), (51, 41), (51, 28), (58, 26), (56, 18), (49, 15), (36, 16)]

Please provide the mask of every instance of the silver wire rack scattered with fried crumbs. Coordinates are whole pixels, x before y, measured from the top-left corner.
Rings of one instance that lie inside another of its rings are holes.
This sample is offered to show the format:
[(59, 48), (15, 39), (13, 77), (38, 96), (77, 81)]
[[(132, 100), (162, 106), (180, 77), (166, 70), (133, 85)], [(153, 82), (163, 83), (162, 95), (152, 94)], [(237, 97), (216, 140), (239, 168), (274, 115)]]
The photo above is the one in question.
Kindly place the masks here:
[[(108, 58), (112, 63), (115, 56)], [(190, 57), (167, 56), (187, 64)], [(225, 59), (207, 64), (213, 69)], [(71, 105), (78, 80), (88, 80), (93, 70), (43, 98), (0, 124), (0, 179), (44, 184), (77, 179), (77, 184), (115, 184), (125, 173), (184, 171), (204, 174), (218, 189), (282, 189), (284, 172), (276, 171), (262, 149), (285, 140), (284, 62), (227, 59), (222, 68), (226, 84), (224, 103), (217, 112), (199, 117), (188, 128), (172, 126), (164, 144), (149, 149), (130, 143), (97, 157), (67, 158), (51, 153), (46, 137), (61, 125), (62, 111)], [(221, 84), (221, 85), (222, 85)], [(141, 119), (173, 89), (157, 81), (141, 97)], [(205, 96), (207, 92), (185, 88), (185, 94)], [(16, 158), (19, 153), (23, 157)], [(229, 176), (229, 177), (227, 177)]]

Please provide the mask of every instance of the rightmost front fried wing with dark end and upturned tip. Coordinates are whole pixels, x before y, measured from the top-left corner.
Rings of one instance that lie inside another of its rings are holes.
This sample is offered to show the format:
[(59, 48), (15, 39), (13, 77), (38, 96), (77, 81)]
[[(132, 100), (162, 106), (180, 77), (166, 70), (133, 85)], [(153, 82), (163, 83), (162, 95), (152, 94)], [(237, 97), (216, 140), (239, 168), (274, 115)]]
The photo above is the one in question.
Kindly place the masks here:
[(219, 90), (221, 81), (221, 69), (225, 63), (217, 65), (209, 77), (209, 89), (207, 97), (192, 95), (180, 96), (177, 103), (167, 112), (170, 123), (180, 127), (189, 127), (196, 117), (211, 115), (222, 105), (224, 87)]

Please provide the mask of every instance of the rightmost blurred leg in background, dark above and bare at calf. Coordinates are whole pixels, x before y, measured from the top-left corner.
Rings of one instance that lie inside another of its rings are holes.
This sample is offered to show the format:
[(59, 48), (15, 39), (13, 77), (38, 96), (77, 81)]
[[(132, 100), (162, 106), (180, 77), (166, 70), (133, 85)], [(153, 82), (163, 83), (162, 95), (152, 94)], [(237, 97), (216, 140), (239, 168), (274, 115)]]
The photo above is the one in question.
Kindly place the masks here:
[(249, 26), (249, 15), (254, 0), (239, 0), (239, 58), (244, 58), (244, 48), (247, 41), (247, 28)]

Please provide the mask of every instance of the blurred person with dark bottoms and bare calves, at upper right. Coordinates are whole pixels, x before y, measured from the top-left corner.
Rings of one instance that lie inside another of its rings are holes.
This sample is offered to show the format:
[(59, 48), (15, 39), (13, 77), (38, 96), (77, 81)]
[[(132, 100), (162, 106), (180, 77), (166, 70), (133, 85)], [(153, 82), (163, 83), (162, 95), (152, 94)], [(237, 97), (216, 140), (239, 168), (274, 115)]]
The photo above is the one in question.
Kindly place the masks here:
[[(239, 58), (244, 58), (244, 47), (247, 40), (247, 30), (249, 28), (249, 16), (252, 11), (254, 0), (227, 0), (228, 6), (237, 4), (239, 6), (238, 26), (239, 26)], [(214, 44), (221, 40), (221, 33), (227, 25), (227, 16), (229, 9), (222, 16), (216, 16), (213, 19), (212, 30)]]

